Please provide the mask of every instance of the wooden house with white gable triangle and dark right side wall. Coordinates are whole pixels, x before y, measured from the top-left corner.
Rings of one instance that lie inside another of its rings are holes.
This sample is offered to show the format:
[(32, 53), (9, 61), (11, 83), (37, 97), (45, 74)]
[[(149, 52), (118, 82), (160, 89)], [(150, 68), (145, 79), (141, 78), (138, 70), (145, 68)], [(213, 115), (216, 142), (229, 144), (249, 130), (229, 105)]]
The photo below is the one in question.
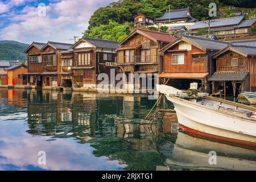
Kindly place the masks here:
[(118, 43), (110, 40), (82, 38), (71, 47), (74, 50), (73, 86), (96, 88), (97, 76), (116, 71), (115, 49)]

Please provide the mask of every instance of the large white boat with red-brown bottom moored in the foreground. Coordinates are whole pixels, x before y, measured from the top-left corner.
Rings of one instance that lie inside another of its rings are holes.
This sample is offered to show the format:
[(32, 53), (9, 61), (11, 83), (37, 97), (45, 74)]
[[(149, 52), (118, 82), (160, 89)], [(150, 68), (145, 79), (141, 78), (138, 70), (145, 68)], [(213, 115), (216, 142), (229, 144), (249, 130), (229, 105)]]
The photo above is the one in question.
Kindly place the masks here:
[[(161, 89), (158, 91), (165, 92)], [(255, 107), (209, 96), (192, 101), (172, 94), (165, 96), (175, 106), (180, 129), (256, 148)]]

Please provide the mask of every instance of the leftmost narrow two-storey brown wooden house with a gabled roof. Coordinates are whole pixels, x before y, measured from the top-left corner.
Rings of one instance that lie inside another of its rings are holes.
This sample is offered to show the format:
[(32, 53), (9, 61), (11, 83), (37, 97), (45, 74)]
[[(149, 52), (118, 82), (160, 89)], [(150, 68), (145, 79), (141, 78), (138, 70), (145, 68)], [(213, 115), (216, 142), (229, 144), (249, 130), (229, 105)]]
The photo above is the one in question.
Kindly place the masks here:
[(45, 43), (33, 42), (24, 51), (27, 53), (27, 76), (28, 84), (33, 86), (42, 86), (43, 63), (40, 49)]

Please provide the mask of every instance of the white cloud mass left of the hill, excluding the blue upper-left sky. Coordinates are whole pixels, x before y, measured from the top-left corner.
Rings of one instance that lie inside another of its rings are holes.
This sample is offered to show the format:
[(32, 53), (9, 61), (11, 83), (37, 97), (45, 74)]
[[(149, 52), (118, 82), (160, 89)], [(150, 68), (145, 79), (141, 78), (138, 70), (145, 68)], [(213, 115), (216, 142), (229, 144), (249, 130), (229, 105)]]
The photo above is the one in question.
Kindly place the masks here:
[[(23, 3), (22, 0), (12, 0)], [(26, 0), (24, 0), (26, 1)], [(38, 8), (26, 6), (10, 17), (12, 23), (2, 28), (0, 39), (31, 43), (68, 42), (72, 36), (82, 36), (88, 21), (98, 5), (106, 6), (113, 0), (63, 0), (46, 6), (46, 17), (38, 16)]]

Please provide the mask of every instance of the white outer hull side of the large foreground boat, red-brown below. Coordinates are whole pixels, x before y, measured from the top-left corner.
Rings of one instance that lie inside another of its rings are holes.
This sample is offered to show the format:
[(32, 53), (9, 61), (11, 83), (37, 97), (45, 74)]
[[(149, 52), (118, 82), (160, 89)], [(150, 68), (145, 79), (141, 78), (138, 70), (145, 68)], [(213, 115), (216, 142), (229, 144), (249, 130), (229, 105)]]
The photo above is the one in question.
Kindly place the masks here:
[(205, 137), (256, 147), (255, 122), (214, 112), (176, 97), (166, 97), (175, 106), (181, 129)]

